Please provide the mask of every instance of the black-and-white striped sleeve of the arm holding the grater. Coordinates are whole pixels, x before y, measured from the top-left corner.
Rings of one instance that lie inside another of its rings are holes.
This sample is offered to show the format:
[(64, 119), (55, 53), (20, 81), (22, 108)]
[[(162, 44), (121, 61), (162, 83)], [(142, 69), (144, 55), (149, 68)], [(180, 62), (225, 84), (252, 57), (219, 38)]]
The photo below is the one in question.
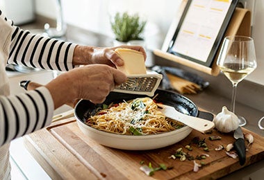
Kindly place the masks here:
[(51, 94), (45, 87), (17, 96), (0, 96), (0, 147), (49, 125), (53, 108)]

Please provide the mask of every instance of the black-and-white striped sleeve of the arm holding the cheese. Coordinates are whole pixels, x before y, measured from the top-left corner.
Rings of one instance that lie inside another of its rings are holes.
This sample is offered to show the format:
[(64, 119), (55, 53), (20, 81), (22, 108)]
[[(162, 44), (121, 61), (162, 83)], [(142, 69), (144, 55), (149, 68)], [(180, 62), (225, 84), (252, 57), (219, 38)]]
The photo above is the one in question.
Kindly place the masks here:
[(34, 35), (14, 26), (6, 17), (4, 19), (13, 28), (8, 64), (58, 71), (74, 68), (72, 57), (76, 44)]

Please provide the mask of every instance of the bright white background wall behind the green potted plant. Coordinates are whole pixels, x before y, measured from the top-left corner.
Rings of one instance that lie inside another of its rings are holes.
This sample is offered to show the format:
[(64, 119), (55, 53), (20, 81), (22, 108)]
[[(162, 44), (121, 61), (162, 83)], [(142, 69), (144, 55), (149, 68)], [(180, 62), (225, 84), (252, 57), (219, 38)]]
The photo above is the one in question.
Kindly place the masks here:
[[(138, 13), (147, 19), (145, 37), (148, 48), (160, 48), (180, 0), (61, 0), (67, 24), (114, 37), (110, 16), (115, 12)], [(56, 0), (35, 0), (36, 12), (56, 18)]]

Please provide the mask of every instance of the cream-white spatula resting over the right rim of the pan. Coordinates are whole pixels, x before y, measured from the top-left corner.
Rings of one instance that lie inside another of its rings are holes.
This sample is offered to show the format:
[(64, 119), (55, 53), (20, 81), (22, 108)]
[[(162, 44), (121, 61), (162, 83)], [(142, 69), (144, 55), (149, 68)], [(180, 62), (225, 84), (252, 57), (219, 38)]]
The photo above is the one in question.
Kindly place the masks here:
[(209, 120), (182, 114), (181, 112), (177, 111), (174, 107), (163, 104), (158, 104), (158, 106), (163, 108), (159, 110), (167, 118), (178, 120), (179, 122), (188, 125), (189, 127), (192, 127), (192, 129), (196, 129), (199, 132), (206, 133), (215, 127), (215, 123)]

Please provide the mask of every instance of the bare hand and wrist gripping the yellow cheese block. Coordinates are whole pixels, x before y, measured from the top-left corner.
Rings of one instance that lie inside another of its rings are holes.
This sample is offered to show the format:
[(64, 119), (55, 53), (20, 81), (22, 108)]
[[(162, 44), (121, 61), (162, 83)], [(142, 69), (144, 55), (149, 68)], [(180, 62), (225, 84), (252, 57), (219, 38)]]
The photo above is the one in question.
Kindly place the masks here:
[(115, 53), (116, 48), (131, 48), (143, 53), (146, 60), (147, 55), (142, 46), (117, 46), (113, 48), (97, 48), (93, 46), (79, 46), (74, 49), (73, 64), (107, 64), (108, 66), (123, 66), (123, 60)]

